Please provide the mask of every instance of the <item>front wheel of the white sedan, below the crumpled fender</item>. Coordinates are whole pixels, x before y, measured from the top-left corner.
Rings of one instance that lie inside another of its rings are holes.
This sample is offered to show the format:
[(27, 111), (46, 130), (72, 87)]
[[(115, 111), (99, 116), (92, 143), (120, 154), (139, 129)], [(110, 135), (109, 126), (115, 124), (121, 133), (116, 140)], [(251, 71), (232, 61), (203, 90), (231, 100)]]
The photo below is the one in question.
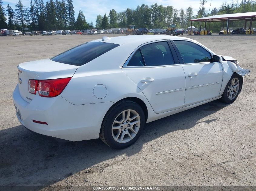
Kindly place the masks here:
[(234, 100), (238, 97), (238, 94), (241, 91), (242, 81), (241, 76), (237, 73), (234, 73), (222, 94), (221, 101), (224, 103), (233, 103)]

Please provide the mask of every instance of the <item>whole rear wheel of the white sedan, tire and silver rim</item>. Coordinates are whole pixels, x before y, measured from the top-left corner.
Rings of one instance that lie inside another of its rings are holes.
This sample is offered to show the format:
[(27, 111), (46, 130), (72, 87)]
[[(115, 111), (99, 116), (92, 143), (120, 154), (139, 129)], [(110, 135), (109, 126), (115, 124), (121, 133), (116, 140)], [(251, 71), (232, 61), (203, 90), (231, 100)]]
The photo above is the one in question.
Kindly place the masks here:
[(101, 140), (109, 147), (129, 147), (139, 138), (145, 126), (145, 115), (135, 102), (125, 100), (112, 107), (103, 119)]

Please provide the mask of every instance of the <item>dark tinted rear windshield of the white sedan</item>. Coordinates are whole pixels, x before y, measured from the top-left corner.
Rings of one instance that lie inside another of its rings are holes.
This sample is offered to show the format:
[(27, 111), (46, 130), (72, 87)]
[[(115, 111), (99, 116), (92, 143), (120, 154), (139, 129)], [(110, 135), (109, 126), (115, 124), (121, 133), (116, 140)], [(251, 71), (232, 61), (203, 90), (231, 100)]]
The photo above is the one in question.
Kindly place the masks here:
[(64, 64), (81, 66), (117, 46), (120, 45), (113, 43), (88, 42), (54, 56), (51, 58), (51, 60)]

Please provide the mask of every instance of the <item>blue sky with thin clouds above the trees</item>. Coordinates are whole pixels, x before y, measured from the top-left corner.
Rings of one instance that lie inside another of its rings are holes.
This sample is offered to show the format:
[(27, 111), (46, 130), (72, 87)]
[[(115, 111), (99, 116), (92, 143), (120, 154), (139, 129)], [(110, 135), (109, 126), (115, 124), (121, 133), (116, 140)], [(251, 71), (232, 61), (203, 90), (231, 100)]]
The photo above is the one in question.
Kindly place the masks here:
[[(208, 0), (206, 3), (206, 11), (209, 11), (210, 2), (211, 9), (214, 7), (219, 8), (224, 0)], [(18, 0), (3, 0), (3, 4), (10, 4), (13, 9), (15, 9), (15, 3)], [(46, 0), (44, 0), (46, 2)], [(29, 7), (30, 0), (22, 0), (22, 3)], [(154, 3), (161, 4), (163, 6), (172, 5), (176, 9), (184, 8), (186, 9), (189, 5), (191, 5), (194, 9), (194, 14), (197, 13), (199, 8), (199, 0), (73, 0), (74, 8), (75, 8), (75, 18), (77, 18), (78, 11), (80, 8), (85, 14), (85, 19), (87, 22), (92, 21), (95, 25), (95, 19), (98, 14), (102, 16), (106, 13), (108, 15), (109, 11), (114, 8), (117, 12), (124, 11), (126, 8), (135, 9), (138, 5), (146, 4), (152, 5)], [(228, 1), (228, 3), (230, 3)]]

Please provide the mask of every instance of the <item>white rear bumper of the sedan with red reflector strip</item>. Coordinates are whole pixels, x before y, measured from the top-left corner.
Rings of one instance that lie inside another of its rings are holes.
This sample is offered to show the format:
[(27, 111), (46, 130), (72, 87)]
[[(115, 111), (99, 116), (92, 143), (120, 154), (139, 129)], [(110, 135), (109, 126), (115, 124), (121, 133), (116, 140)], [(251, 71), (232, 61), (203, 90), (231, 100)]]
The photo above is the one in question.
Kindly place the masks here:
[(28, 103), (22, 99), (18, 85), (13, 92), (13, 103), (21, 115), (16, 112), (18, 120), (27, 129), (68, 141), (98, 138), (102, 120), (113, 105), (112, 102), (73, 105), (61, 96), (48, 98), (38, 94)]

